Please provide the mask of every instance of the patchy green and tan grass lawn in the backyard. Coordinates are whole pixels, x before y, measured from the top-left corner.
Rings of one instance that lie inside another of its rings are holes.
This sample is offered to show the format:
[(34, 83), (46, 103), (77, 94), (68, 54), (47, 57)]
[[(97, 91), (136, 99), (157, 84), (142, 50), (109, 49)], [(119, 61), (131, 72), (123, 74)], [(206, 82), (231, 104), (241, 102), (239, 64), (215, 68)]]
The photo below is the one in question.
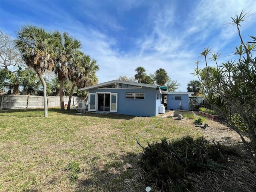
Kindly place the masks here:
[[(0, 111), (0, 191), (145, 191), (138, 159), (148, 142), (202, 135), (173, 118)], [(160, 121), (160, 122), (159, 122)], [(159, 122), (159, 123), (158, 123)], [(124, 170), (129, 163), (133, 168)]]

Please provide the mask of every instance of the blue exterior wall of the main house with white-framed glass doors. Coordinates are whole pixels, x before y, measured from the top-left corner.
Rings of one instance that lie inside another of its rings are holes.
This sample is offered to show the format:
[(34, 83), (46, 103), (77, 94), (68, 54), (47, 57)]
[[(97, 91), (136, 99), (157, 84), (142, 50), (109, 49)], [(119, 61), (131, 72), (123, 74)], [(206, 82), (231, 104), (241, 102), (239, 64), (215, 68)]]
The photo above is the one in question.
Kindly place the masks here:
[[(155, 88), (129, 88), (129, 89), (92, 89), (90, 93), (111, 92), (118, 94), (118, 110), (117, 114), (133, 115), (133, 116), (156, 116), (158, 114), (158, 106), (156, 103), (156, 93), (159, 92)], [(126, 99), (126, 92), (144, 92), (144, 99)], [(159, 92), (160, 93), (160, 92)]]

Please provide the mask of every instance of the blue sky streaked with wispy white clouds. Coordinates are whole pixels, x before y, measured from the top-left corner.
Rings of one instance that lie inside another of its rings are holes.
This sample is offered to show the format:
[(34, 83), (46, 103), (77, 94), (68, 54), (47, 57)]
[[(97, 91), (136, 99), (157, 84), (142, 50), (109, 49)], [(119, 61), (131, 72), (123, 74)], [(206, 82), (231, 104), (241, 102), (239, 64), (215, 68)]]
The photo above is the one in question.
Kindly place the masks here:
[[(22, 25), (67, 31), (82, 42), (82, 50), (97, 60), (99, 83), (164, 68), (186, 91), (194, 62), (204, 47), (231, 59), (239, 45), (235, 26), (225, 25), (242, 10), (252, 14), (242, 23), (242, 35), (256, 36), (255, 0), (68, 1), (0, 0), (0, 30), (11, 34)], [(200, 66), (204, 67), (202, 62)]]

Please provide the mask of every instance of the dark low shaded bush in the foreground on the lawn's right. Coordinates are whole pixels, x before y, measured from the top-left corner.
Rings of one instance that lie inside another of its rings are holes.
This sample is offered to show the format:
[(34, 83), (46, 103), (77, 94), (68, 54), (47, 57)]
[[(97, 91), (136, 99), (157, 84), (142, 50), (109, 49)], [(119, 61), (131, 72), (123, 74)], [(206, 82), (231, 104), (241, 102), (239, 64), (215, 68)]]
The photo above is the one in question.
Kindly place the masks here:
[(193, 190), (186, 174), (224, 167), (227, 162), (224, 154), (226, 148), (219, 143), (210, 144), (203, 137), (186, 136), (172, 141), (164, 138), (148, 143), (140, 165), (147, 174), (146, 182), (161, 191), (186, 191)]

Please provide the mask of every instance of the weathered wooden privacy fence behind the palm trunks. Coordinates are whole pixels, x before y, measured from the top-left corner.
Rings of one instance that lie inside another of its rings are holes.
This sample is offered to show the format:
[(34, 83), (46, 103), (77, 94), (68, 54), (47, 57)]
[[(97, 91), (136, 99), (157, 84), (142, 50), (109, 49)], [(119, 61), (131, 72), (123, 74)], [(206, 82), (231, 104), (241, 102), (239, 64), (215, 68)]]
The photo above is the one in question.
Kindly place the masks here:
[[(64, 104), (68, 104), (68, 96), (64, 96)], [(82, 98), (72, 96), (70, 105), (77, 105)], [(48, 107), (60, 106), (60, 96), (48, 96)], [(0, 96), (0, 110), (44, 108), (44, 97), (36, 95), (2, 95)]]

